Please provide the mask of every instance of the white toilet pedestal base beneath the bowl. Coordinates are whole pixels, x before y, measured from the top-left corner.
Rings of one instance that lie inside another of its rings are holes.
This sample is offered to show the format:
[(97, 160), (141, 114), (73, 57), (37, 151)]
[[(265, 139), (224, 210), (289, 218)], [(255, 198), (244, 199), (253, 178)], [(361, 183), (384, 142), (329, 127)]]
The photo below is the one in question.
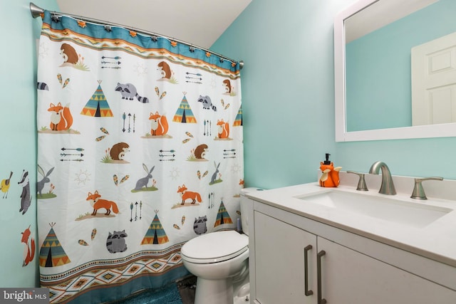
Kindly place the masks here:
[(206, 280), (197, 278), (195, 304), (233, 304), (232, 278)]

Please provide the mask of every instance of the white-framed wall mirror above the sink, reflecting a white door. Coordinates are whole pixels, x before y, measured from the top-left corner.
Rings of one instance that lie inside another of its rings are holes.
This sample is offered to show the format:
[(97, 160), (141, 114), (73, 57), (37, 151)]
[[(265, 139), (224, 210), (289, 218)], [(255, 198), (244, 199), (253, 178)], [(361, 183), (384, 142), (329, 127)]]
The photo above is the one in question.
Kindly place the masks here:
[(360, 0), (336, 15), (337, 142), (456, 136), (455, 16), (455, 0)]

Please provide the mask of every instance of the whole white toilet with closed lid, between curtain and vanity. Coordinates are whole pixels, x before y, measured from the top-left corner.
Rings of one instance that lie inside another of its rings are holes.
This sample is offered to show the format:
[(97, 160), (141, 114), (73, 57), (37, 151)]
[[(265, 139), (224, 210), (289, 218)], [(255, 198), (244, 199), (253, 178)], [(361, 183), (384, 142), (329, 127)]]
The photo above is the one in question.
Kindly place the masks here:
[(249, 303), (249, 218), (253, 202), (246, 193), (258, 191), (246, 188), (241, 192), (240, 234), (234, 230), (202, 234), (187, 241), (181, 248), (187, 271), (197, 276), (195, 304)]

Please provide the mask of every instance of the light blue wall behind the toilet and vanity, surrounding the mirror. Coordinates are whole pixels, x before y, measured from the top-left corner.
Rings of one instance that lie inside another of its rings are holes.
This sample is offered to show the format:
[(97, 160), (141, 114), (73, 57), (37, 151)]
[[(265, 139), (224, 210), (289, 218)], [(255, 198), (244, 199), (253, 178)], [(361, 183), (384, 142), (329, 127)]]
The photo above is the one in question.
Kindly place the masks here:
[[(244, 60), (246, 186), (316, 181), (324, 153), (344, 170), (456, 179), (456, 138), (334, 141), (333, 17), (355, 0), (253, 0), (212, 50)], [(410, 189), (411, 191), (411, 189)]]

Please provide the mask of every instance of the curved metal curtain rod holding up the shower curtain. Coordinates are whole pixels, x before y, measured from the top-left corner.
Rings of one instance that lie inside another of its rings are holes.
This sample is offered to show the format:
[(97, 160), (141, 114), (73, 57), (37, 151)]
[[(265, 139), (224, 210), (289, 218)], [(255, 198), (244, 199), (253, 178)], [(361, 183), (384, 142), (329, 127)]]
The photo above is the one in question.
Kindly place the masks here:
[[(41, 16), (41, 14), (44, 13), (44, 9), (41, 9), (41, 7), (36, 6), (35, 4), (33, 4), (33, 2), (30, 2), (30, 12), (31, 12), (31, 16), (33, 18), (37, 18), (38, 16)], [(141, 29), (138, 29), (138, 28), (131, 28), (131, 27), (128, 27), (128, 26), (123, 26), (121, 24), (112, 23), (112, 22), (108, 22), (108, 21), (102, 21), (102, 20), (98, 20), (98, 19), (90, 19), (90, 18), (86, 18), (86, 17), (76, 16), (76, 15), (73, 15), (73, 14), (58, 13), (57, 11), (51, 11), (51, 14), (59, 15), (59, 16), (70, 16), (70, 17), (73, 17), (73, 18), (78, 19), (78, 20), (87, 21), (87, 22), (90, 22), (90, 23), (97, 23), (97, 24), (100, 24), (100, 25), (118, 26), (120, 28), (128, 28), (128, 29), (130, 29), (132, 31), (135, 31), (135, 32), (138, 32), (138, 33), (143, 33), (143, 34), (148, 35), (148, 36), (160, 36), (162, 38), (167, 38), (170, 41), (176, 41), (178, 43), (185, 44), (186, 46), (189, 46), (190, 48), (199, 48), (202, 51), (206, 51), (206, 52), (211, 53), (212, 55), (219, 56), (223, 60), (231, 61), (232, 63), (237, 63), (238, 62), (238, 61), (232, 60), (231, 58), (227, 58), (225, 56), (222, 56), (219, 53), (215, 53), (213, 51), (209, 51), (207, 48), (200, 48), (199, 46), (195, 46), (195, 45), (193, 45), (191, 43), (188, 43), (188, 42), (185, 42), (185, 41), (181, 41), (181, 40), (178, 40), (178, 39), (175, 39), (175, 38), (170, 38), (170, 37), (167, 37), (167, 36), (163, 36), (163, 35), (160, 35), (158, 33), (153, 33), (153, 32), (150, 32), (150, 31), (144, 31), (144, 30), (141, 30)], [(241, 69), (244, 68), (244, 61), (239, 61), (239, 68), (241, 68)]]

